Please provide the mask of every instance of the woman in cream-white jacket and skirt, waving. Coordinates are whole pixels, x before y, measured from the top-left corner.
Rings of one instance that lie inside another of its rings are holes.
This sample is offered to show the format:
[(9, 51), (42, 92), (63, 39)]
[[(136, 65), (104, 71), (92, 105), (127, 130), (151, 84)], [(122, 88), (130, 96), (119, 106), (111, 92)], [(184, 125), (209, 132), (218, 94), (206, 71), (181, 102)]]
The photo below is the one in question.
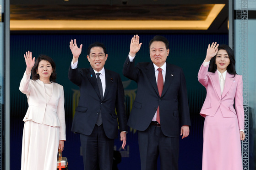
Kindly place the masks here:
[(52, 58), (39, 56), (35, 62), (29, 51), (24, 58), (27, 68), (19, 89), (27, 95), (28, 109), (21, 170), (56, 170), (58, 149), (63, 151), (66, 139), (63, 86), (55, 82)]

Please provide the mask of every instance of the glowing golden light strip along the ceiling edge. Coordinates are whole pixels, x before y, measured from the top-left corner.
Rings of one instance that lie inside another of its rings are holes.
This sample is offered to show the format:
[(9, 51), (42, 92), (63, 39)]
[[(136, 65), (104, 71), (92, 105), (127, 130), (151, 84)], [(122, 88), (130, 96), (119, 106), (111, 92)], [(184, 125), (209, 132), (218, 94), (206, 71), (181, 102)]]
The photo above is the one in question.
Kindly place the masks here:
[(214, 4), (203, 21), (11, 20), (14, 30), (207, 30), (225, 4)]

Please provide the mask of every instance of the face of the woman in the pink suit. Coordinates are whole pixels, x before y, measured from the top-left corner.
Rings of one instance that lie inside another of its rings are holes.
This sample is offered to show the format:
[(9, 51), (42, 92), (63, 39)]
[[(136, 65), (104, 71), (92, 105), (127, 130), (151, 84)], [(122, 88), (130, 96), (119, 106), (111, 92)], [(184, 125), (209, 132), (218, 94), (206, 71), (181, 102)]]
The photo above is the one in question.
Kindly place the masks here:
[(227, 70), (227, 67), (230, 64), (230, 59), (226, 50), (218, 50), (215, 63), (219, 72), (223, 73)]

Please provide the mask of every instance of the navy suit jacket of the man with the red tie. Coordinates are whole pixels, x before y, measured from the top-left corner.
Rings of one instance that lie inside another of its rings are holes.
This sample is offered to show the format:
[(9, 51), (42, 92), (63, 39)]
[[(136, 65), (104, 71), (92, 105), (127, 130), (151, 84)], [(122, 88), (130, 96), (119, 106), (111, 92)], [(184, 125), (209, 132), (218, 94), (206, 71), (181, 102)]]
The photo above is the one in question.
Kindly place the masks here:
[(123, 74), (138, 84), (128, 125), (144, 131), (160, 108), (161, 129), (169, 137), (180, 135), (180, 125), (191, 125), (185, 76), (180, 67), (166, 66), (166, 76), (162, 96), (159, 97), (153, 62), (140, 62), (136, 65), (127, 57)]

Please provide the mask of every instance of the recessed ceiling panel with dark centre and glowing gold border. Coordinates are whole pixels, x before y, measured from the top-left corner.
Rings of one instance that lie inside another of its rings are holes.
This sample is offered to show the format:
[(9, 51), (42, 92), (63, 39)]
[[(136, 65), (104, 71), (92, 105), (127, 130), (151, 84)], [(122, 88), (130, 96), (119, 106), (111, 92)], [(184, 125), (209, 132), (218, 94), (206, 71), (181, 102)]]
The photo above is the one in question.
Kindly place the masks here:
[(11, 5), (14, 30), (207, 30), (225, 4)]

